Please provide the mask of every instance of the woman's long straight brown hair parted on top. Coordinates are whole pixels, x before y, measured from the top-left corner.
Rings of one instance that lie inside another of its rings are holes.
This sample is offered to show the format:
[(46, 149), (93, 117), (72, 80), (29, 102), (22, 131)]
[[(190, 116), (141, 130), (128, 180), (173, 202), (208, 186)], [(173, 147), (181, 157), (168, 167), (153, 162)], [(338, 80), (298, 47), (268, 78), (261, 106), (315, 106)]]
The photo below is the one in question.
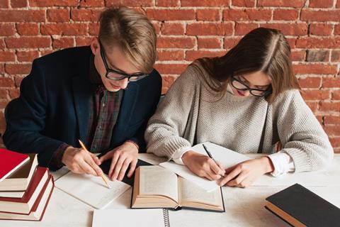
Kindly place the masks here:
[(271, 77), (272, 94), (266, 97), (272, 103), (278, 94), (288, 89), (299, 89), (290, 60), (290, 45), (280, 31), (256, 28), (222, 57), (200, 58), (193, 62), (209, 74), (208, 86), (215, 92), (225, 94), (232, 75), (261, 71)]

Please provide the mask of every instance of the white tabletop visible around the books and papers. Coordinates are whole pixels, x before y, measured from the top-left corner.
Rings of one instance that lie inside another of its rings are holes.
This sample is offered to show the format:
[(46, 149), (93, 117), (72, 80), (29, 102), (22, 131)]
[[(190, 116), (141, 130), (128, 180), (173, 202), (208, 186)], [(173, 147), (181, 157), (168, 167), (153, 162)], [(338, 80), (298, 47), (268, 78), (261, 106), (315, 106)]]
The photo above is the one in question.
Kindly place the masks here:
[[(256, 157), (256, 155), (249, 155)], [(153, 155), (141, 154), (140, 159), (157, 164), (162, 159)], [(55, 180), (68, 170), (54, 172)], [(336, 154), (332, 165), (319, 172), (288, 174), (274, 178), (262, 176), (253, 186), (246, 189), (222, 187), (225, 200), (225, 213), (207, 211), (169, 211), (171, 227), (174, 226), (288, 226), (264, 209), (265, 198), (286, 187), (299, 183), (319, 194), (335, 206), (340, 207), (340, 154)], [(106, 209), (128, 209), (132, 190), (129, 189)], [(0, 221), (0, 226), (91, 226), (94, 208), (55, 188), (40, 222)], [(110, 226), (114, 226), (113, 224)]]

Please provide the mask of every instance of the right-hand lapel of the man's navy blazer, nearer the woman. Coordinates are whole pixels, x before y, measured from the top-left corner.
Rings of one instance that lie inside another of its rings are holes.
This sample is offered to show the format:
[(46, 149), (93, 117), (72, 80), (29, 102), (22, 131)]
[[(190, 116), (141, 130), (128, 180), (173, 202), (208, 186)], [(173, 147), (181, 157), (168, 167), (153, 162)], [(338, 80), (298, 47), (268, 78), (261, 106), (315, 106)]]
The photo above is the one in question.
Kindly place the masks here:
[(131, 82), (128, 85), (128, 89), (124, 91), (118, 119), (112, 133), (111, 147), (117, 145), (115, 143), (119, 140), (118, 138), (120, 138), (120, 136), (124, 136), (125, 131), (128, 129), (132, 114), (135, 110), (139, 87), (140, 86), (137, 83)]

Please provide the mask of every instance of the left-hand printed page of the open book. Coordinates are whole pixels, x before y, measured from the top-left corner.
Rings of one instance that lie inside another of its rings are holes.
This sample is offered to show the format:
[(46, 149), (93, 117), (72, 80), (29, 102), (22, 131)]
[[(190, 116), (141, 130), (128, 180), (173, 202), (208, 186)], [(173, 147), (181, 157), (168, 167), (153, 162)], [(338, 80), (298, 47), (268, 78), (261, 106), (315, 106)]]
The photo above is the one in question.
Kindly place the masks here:
[(177, 176), (163, 167), (140, 167), (140, 195), (164, 195), (178, 201)]

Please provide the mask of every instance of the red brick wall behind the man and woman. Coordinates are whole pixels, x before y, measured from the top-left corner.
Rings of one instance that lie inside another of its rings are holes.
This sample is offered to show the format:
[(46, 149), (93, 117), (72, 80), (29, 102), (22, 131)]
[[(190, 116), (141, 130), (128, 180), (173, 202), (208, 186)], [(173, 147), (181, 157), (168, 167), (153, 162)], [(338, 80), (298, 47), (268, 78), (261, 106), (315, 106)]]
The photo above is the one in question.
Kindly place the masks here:
[(280, 29), (305, 101), (340, 153), (340, 0), (0, 0), (0, 133), (4, 107), (18, 96), (32, 60), (88, 45), (98, 13), (118, 5), (154, 23), (163, 92), (196, 58), (223, 55), (253, 28)]

